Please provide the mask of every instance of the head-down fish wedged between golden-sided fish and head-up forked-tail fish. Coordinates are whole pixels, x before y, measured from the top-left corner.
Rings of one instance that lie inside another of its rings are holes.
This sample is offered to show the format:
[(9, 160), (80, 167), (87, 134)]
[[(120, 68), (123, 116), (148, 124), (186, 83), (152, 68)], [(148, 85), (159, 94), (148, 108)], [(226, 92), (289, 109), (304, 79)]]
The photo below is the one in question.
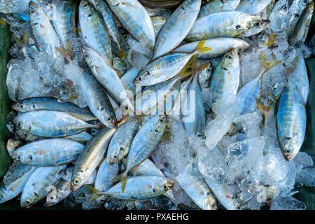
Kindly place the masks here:
[[(137, 120), (123, 123), (113, 135), (109, 144), (106, 162), (113, 165), (128, 155), (132, 139), (139, 130)], [(97, 188), (98, 189), (98, 188)]]

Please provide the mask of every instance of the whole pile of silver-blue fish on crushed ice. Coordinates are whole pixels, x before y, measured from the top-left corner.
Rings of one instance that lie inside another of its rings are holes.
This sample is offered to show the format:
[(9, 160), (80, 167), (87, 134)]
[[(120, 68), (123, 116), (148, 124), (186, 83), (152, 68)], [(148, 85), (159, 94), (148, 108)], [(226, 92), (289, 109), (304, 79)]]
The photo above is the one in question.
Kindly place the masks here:
[[(305, 209), (312, 0), (8, 0), (0, 203)], [(20, 195), (20, 196), (18, 196)]]

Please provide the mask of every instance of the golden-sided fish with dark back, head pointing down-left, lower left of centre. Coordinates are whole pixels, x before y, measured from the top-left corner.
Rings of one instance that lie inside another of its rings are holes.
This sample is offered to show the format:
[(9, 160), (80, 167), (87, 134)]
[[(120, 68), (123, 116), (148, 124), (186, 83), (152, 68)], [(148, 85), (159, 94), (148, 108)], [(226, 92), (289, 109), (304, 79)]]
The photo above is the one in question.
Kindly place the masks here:
[(116, 129), (105, 127), (87, 142), (74, 166), (73, 175), (71, 177), (72, 192), (83, 186), (94, 169), (97, 168), (115, 132)]

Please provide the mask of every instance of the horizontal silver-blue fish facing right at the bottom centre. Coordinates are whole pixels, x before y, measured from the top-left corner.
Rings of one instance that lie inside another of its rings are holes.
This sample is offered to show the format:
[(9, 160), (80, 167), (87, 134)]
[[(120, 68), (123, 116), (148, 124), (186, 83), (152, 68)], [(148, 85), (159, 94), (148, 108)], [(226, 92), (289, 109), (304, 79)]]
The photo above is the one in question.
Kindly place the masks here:
[(121, 191), (121, 183), (116, 183), (109, 190), (98, 194), (110, 195), (121, 200), (144, 200), (164, 195), (173, 186), (174, 183), (166, 177), (133, 176), (128, 177), (124, 192)]

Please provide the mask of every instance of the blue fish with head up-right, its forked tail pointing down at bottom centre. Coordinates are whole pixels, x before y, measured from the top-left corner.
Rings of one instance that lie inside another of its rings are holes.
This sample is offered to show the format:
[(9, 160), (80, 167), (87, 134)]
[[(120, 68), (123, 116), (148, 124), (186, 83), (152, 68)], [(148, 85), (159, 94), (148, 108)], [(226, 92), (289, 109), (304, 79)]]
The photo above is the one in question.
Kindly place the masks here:
[(167, 125), (166, 116), (151, 116), (141, 126), (139, 132), (132, 140), (130, 150), (127, 157), (127, 167), (123, 174), (116, 176), (112, 182), (120, 181), (121, 190), (125, 190), (127, 175), (134, 167), (137, 167), (141, 162), (144, 162), (151, 153), (155, 150), (156, 146), (160, 143), (162, 136), (165, 132)]

